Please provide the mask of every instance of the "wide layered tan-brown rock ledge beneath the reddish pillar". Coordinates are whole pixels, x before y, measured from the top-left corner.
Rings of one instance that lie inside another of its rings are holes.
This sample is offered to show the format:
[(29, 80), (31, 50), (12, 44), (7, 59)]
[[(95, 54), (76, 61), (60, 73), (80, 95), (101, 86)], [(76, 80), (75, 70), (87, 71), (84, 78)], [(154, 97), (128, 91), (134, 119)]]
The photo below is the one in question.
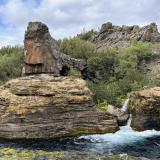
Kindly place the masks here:
[(56, 138), (117, 129), (114, 116), (94, 107), (82, 79), (38, 75), (0, 87), (1, 138)]

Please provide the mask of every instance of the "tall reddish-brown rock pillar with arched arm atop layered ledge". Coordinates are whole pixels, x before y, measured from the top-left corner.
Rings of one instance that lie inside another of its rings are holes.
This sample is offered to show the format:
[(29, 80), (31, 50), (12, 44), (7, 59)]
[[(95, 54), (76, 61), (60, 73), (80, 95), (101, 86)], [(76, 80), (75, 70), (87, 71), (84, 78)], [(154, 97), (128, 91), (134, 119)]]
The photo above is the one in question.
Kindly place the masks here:
[(52, 73), (66, 76), (69, 65), (73, 65), (81, 71), (83, 78), (87, 76), (86, 62), (61, 53), (48, 27), (41, 22), (29, 22), (25, 32), (24, 49), (24, 75)]

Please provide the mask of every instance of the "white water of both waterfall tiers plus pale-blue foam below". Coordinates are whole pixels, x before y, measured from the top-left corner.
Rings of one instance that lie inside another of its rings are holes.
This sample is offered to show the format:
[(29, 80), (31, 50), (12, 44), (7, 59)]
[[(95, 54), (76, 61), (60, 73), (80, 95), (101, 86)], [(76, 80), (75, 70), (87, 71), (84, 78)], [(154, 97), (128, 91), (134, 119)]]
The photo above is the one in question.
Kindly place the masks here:
[[(128, 108), (128, 102), (129, 99), (127, 99), (122, 107), (122, 111), (127, 111)], [(160, 131), (156, 130), (146, 130), (143, 132), (134, 131), (130, 125), (132, 121), (132, 115), (130, 115), (130, 118), (126, 124), (126, 126), (120, 127), (120, 130), (116, 133), (108, 133), (108, 134), (97, 134), (97, 135), (87, 135), (87, 136), (81, 136), (78, 139), (87, 139), (90, 140), (92, 145), (89, 146), (90, 151), (95, 152), (108, 152), (112, 153), (114, 150), (116, 150), (117, 147), (119, 149), (123, 146), (142, 143), (145, 144), (145, 141), (147, 141), (147, 138), (160, 136)], [(160, 146), (159, 143), (156, 144), (157, 146)], [(118, 150), (119, 150), (118, 149)]]

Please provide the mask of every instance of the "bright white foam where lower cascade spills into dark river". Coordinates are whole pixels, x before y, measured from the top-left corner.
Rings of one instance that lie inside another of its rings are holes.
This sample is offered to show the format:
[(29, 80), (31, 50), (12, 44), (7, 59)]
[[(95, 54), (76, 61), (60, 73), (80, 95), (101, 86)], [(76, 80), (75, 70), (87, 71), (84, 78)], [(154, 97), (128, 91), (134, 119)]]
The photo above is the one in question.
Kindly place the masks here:
[(132, 144), (134, 142), (143, 141), (149, 137), (160, 136), (160, 131), (156, 130), (146, 130), (143, 132), (134, 131), (130, 127), (131, 119), (132, 117), (130, 115), (127, 125), (120, 127), (120, 130), (116, 133), (81, 136), (79, 138), (90, 139), (92, 142), (97, 142), (98, 145), (101, 143), (103, 145), (106, 144), (112, 146)]

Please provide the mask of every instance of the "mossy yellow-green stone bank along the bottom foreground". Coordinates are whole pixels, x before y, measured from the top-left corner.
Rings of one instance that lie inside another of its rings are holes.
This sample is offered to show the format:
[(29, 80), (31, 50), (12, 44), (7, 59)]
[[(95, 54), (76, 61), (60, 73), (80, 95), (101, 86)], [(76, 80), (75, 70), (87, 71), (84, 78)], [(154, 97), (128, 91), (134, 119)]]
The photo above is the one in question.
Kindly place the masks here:
[[(111, 155), (78, 151), (42, 151), (0, 149), (0, 160), (149, 160), (143, 157), (133, 157), (127, 154)], [(151, 159), (150, 159), (151, 160)], [(157, 159), (154, 159), (157, 160)]]

